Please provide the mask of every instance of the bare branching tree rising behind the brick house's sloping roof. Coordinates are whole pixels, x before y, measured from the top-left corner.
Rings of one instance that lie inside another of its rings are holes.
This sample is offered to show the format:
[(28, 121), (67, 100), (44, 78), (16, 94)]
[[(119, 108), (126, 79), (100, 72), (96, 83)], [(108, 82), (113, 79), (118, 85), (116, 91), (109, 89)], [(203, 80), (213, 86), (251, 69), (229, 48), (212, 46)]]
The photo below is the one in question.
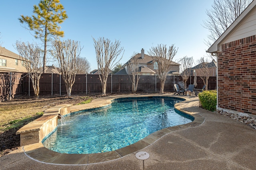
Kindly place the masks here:
[(209, 47), (238, 18), (252, 0), (214, 0), (212, 9), (206, 10), (208, 19), (204, 27), (210, 31), (206, 45)]

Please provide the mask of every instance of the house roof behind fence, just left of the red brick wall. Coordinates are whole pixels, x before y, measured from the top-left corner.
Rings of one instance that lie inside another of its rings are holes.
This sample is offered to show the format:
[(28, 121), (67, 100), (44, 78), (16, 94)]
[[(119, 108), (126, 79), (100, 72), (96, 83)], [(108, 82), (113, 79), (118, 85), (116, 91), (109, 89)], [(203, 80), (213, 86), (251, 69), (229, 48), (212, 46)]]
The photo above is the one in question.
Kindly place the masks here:
[(212, 61), (210, 63), (200, 63), (194, 67), (191, 68), (191, 76), (194, 76), (196, 73), (196, 76), (204, 76), (201, 75), (202, 71), (200, 69), (203, 69), (205, 65), (205, 68), (208, 68), (210, 76), (216, 76), (217, 75), (217, 63), (216, 61)]

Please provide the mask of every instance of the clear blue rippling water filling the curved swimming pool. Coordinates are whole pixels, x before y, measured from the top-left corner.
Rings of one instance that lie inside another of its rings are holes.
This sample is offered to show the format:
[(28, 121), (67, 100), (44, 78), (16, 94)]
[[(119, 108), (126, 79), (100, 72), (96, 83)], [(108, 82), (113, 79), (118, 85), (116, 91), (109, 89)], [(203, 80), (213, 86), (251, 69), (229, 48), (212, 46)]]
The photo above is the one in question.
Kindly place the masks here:
[(110, 107), (65, 116), (43, 145), (60, 153), (99, 153), (126, 147), (166, 127), (192, 122), (171, 98), (116, 100)]

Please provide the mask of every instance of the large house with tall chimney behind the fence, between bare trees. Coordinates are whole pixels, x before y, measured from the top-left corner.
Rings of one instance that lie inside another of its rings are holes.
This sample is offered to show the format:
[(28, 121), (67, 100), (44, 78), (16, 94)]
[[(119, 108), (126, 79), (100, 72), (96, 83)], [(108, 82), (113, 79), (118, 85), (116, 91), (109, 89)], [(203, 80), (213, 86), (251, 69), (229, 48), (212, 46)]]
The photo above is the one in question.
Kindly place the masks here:
[[(134, 57), (138, 58), (140, 75), (156, 75), (157, 64), (154, 62), (151, 56), (144, 54), (144, 49), (141, 53), (136, 54)], [(132, 74), (130, 69), (130, 62), (132, 59), (127, 61), (116, 74)], [(176, 75), (180, 71), (180, 64), (172, 61), (172, 65), (168, 70), (168, 75)], [(173, 74), (174, 73), (174, 74)], [(179, 74), (179, 73), (178, 73)]]

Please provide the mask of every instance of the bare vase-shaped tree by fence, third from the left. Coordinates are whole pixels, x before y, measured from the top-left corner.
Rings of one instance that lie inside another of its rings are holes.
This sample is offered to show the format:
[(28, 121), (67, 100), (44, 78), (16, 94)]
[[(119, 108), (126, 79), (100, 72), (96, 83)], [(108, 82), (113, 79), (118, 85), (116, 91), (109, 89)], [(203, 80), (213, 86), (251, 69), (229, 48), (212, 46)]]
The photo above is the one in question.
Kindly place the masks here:
[(120, 41), (115, 41), (113, 43), (110, 42), (109, 39), (104, 39), (104, 37), (100, 37), (98, 41), (93, 38), (93, 41), (96, 51), (98, 72), (100, 73), (100, 82), (102, 84), (102, 95), (106, 95), (108, 74), (112, 67), (122, 59), (121, 57), (116, 61), (124, 48), (120, 47)]

